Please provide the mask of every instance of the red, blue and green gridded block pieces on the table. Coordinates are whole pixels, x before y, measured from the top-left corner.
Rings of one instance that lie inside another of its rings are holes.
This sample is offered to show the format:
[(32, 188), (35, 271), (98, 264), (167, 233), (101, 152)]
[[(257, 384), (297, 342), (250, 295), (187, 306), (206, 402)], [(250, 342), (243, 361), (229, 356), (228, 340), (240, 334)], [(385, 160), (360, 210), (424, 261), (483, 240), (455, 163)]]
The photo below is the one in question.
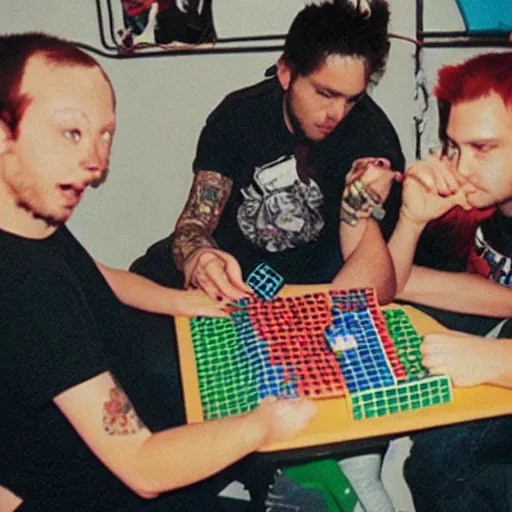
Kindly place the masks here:
[(205, 419), (270, 395), (345, 396), (356, 420), (452, 400), (449, 378), (421, 365), (403, 310), (381, 310), (372, 289), (272, 298), (282, 281), (267, 270), (248, 279), (254, 287), (271, 275), (264, 294), (238, 301), (230, 318), (190, 320)]

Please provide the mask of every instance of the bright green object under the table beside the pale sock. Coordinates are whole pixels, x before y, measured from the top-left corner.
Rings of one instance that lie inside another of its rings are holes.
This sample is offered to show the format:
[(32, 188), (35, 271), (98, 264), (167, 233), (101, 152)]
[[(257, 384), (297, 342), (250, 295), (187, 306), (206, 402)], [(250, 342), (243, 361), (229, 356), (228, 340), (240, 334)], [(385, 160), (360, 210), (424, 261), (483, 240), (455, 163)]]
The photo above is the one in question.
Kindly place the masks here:
[(357, 495), (334, 459), (287, 466), (283, 473), (293, 482), (322, 493), (328, 512), (353, 512)]

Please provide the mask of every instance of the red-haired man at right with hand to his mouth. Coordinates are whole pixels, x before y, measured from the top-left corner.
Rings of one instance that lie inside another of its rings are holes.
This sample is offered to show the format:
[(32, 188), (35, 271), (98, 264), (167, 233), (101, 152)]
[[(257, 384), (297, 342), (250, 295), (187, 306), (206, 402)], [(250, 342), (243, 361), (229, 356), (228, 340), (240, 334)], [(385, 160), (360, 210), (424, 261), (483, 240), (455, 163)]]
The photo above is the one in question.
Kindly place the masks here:
[[(512, 52), (442, 68), (435, 94), (449, 105), (443, 151), (407, 170), (389, 242), (399, 297), (450, 312), (510, 319)], [(427, 222), (455, 205), (496, 209), (476, 230), (468, 271), (414, 266)], [(503, 328), (501, 323), (487, 338), (456, 331), (428, 334), (423, 363), (433, 373), (449, 375), (455, 386), (512, 387), (511, 327), (511, 320)], [(405, 477), (416, 511), (510, 511), (511, 432), (509, 415), (415, 436)]]

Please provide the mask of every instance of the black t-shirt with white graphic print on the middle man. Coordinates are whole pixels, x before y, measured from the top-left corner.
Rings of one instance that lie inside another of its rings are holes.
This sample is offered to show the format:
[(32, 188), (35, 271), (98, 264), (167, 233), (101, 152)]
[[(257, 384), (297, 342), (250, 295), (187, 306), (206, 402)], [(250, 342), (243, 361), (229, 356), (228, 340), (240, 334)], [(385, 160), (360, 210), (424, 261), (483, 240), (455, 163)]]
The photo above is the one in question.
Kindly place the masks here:
[[(202, 130), (194, 172), (216, 171), (233, 188), (214, 233), (244, 276), (265, 261), (287, 283), (323, 283), (341, 267), (340, 198), (356, 158), (382, 156), (402, 171), (404, 158), (384, 112), (364, 96), (337, 129), (308, 143), (307, 177), (297, 173), (298, 141), (283, 118), (277, 79), (228, 95)], [(393, 187), (381, 222), (389, 237), (398, 217), (400, 188)]]

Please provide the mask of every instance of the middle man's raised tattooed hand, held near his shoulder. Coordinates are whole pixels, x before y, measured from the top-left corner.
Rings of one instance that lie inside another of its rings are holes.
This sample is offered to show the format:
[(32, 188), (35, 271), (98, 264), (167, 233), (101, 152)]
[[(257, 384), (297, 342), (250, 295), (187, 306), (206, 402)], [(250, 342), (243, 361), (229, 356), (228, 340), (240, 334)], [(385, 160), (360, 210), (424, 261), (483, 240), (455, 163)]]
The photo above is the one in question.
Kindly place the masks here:
[(401, 181), (402, 174), (391, 169), (386, 158), (358, 158), (345, 178), (341, 202), (341, 220), (351, 225), (359, 219), (384, 217), (382, 203), (387, 199), (394, 181)]

